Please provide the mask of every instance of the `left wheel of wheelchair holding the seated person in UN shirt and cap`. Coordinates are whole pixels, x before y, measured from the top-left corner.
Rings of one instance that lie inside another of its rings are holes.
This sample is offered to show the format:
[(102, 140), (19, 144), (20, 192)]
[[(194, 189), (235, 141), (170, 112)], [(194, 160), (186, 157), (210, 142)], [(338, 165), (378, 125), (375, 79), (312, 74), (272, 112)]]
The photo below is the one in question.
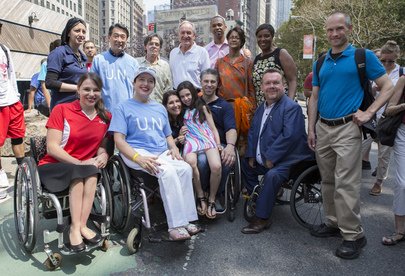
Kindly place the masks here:
[(107, 163), (111, 195), (111, 226), (122, 233), (131, 218), (130, 177), (122, 158), (114, 155)]

